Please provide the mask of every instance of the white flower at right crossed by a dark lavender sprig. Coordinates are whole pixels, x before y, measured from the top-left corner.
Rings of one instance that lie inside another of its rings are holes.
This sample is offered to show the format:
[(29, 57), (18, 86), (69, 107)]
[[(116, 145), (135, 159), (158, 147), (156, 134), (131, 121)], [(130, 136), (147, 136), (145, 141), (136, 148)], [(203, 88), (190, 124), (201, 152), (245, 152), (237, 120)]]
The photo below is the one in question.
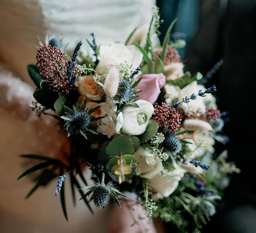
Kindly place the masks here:
[[(199, 90), (202, 90), (204, 92), (206, 89), (202, 85), (197, 85), (196, 81), (190, 83), (189, 85), (181, 89), (178, 102), (182, 102), (182, 99), (186, 96), (189, 98), (192, 94), (197, 95)], [(181, 107), (185, 112), (200, 111), (202, 113), (205, 113), (205, 102), (207, 101), (214, 103), (215, 99), (212, 94), (206, 94), (206, 97), (198, 96), (196, 100), (190, 100), (188, 103), (182, 103)]]

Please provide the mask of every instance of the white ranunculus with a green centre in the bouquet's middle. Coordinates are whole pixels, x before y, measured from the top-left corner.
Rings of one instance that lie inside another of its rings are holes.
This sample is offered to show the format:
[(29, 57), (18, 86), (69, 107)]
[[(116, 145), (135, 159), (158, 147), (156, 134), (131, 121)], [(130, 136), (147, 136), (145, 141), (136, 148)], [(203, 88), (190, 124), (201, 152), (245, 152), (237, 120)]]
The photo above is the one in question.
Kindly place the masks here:
[(154, 113), (154, 107), (145, 100), (137, 100), (135, 104), (139, 107), (127, 106), (122, 111), (122, 131), (126, 134), (140, 135), (145, 132), (148, 122)]

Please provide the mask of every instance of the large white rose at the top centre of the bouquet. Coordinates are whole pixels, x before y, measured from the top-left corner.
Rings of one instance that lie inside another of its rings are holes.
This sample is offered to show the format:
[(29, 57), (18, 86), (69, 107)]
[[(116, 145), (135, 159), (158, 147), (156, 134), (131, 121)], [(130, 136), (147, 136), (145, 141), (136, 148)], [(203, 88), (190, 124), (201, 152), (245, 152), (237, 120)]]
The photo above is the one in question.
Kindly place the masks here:
[(125, 62), (128, 65), (132, 65), (132, 70), (135, 70), (142, 62), (142, 59), (143, 55), (134, 45), (125, 46), (120, 43), (110, 46), (101, 45), (97, 72), (105, 73), (105, 71), (107, 69), (110, 70), (112, 66), (118, 67), (120, 63), (124, 64)]

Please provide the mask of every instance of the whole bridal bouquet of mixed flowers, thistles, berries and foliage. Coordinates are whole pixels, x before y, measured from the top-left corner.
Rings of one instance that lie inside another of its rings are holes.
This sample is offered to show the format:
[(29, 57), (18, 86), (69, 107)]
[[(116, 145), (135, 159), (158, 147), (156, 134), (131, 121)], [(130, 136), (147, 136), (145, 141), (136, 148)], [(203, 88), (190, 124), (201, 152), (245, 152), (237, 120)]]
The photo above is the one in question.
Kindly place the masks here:
[[(219, 133), (223, 114), (212, 95), (216, 87), (199, 85), (200, 73), (183, 73), (177, 48), (185, 42), (170, 41), (175, 21), (162, 46), (152, 44), (161, 22), (154, 10), (145, 38), (135, 29), (124, 44), (98, 46), (92, 33), (92, 56), (79, 54), (81, 42), (71, 56), (55, 37), (41, 43), (37, 64), (28, 66), (38, 85), (32, 110), (58, 119), (70, 153), (22, 155), (42, 162), (18, 179), (41, 169), (29, 196), (58, 177), (55, 195), (66, 218), (69, 179), (74, 202), (77, 189), (90, 209), (90, 201), (104, 208), (131, 192), (148, 217), (159, 216), (181, 232), (199, 232), (215, 213), (228, 175), (239, 169), (226, 162), (226, 151), (214, 153), (215, 140), (226, 142)], [(92, 171), (94, 183), (86, 182), (84, 169)]]

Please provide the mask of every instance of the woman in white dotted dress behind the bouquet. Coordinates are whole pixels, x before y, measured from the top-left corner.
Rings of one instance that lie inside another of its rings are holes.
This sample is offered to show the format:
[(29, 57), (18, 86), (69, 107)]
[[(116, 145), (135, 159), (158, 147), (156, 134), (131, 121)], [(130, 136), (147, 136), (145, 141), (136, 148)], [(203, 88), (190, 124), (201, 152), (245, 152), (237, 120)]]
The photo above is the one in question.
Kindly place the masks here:
[[(42, 41), (46, 35), (62, 38), (68, 52), (78, 41), (90, 38), (91, 32), (98, 44), (124, 42), (135, 27), (147, 32), (153, 4), (154, 0), (1, 0), (1, 232), (139, 232), (136, 227), (129, 228), (132, 220), (125, 207), (94, 209), (91, 215), (83, 203), (72, 206), (68, 191), (66, 222), (59, 198), (54, 196), (55, 182), (25, 200), (33, 187), (31, 177), (16, 179), (31, 166), (19, 154), (55, 156), (66, 137), (55, 129), (52, 118), (40, 120), (29, 109), (35, 86), (26, 66), (36, 62), (37, 36)], [(88, 52), (86, 42), (82, 50)], [(148, 228), (155, 232), (152, 225)]]

